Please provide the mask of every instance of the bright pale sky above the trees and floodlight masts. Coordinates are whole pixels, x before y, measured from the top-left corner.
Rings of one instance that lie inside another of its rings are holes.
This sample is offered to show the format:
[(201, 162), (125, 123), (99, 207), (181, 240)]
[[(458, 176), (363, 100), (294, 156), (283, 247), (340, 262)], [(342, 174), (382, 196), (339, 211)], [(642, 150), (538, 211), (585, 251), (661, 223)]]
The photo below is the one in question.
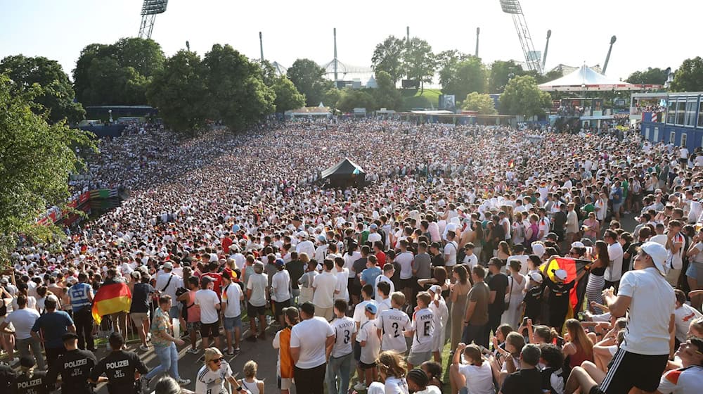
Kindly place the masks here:
[[(81, 49), (136, 37), (141, 0), (0, 0), (0, 58), (22, 53), (56, 59), (70, 75)], [(626, 78), (647, 67), (678, 68), (685, 58), (703, 55), (699, 41), (703, 1), (521, 0), (535, 49), (543, 51), (552, 30), (546, 68), (560, 63), (600, 64), (610, 37), (617, 36), (607, 75)], [(333, 58), (337, 27), (338, 58), (370, 65), (375, 44), (389, 34), (427, 40), (435, 52), (473, 53), (481, 28), (479, 56), (523, 61), (510, 15), (498, 0), (475, 1), (224, 1), (171, 0), (157, 15), (152, 38), (167, 56), (185, 48), (204, 54), (215, 43), (231, 44), (259, 58), (290, 66), (296, 58), (324, 64)], [(675, 32), (675, 33), (674, 33)]]

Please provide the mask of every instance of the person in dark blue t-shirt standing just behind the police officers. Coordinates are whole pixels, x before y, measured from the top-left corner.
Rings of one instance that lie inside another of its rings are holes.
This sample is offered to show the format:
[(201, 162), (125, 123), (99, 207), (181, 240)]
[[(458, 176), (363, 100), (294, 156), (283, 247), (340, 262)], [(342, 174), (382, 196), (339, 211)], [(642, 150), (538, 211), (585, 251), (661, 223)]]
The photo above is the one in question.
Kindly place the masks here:
[(53, 365), (58, 356), (63, 355), (66, 348), (63, 346), (61, 337), (67, 332), (76, 332), (73, 319), (63, 310), (56, 310), (56, 300), (53, 297), (46, 298), (44, 302), (46, 313), (42, 314), (34, 326), (32, 326), (32, 336), (41, 340), (39, 331), (44, 331), (44, 350), (46, 350), (46, 364)]

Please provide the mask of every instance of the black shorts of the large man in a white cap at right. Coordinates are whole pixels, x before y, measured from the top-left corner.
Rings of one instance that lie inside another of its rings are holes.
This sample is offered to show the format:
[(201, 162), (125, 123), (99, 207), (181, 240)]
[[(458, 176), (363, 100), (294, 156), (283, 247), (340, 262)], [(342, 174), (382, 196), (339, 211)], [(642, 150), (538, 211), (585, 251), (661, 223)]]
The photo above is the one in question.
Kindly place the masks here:
[(608, 365), (608, 374), (591, 393), (628, 393), (631, 388), (653, 392), (659, 387), (669, 355), (638, 355), (618, 349)]

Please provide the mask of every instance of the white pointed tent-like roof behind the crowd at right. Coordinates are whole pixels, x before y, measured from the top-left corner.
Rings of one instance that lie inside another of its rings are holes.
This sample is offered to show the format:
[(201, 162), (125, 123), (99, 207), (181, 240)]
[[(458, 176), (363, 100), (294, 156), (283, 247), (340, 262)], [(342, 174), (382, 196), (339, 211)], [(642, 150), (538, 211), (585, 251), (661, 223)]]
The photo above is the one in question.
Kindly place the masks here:
[(582, 65), (571, 74), (539, 85), (543, 91), (603, 91), (603, 90), (642, 90), (658, 85), (628, 84), (615, 78), (606, 77)]

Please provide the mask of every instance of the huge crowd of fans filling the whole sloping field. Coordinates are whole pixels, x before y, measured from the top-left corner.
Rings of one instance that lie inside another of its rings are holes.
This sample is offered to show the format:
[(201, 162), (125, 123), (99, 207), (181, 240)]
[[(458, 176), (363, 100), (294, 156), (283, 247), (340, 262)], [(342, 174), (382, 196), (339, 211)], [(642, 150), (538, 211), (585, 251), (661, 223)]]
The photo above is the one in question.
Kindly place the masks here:
[[(365, 186), (323, 187), (343, 158)], [(131, 197), (13, 253), (0, 392), (58, 376), (63, 392), (111, 394), (703, 387), (703, 151), (622, 130), (333, 119), (185, 141), (140, 127), (88, 164), (84, 179)], [(96, 324), (94, 293), (119, 283), (129, 311)], [(236, 379), (228, 360), (264, 343), (278, 360)], [(195, 376), (179, 373), (183, 348), (202, 355)]]

